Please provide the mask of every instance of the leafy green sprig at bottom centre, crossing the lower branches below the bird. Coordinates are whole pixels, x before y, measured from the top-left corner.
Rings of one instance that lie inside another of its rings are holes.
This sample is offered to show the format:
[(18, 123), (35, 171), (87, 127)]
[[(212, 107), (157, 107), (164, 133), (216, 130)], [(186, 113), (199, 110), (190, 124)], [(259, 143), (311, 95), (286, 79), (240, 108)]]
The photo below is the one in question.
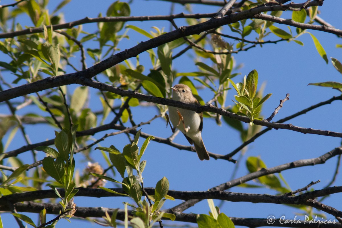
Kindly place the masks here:
[[(142, 176), (142, 172), (144, 171), (146, 166), (146, 160), (141, 161), (141, 157), (143, 156), (149, 141), (151, 139), (154, 139), (154, 137), (148, 137), (144, 141), (139, 152), (139, 147), (137, 146), (137, 144), (140, 137), (140, 131), (141, 130), (139, 130), (135, 135), (132, 144), (127, 144), (123, 147), (122, 153), (113, 145), (111, 145), (110, 147), (95, 148), (109, 153), (110, 161), (123, 178), (121, 182), (101, 174), (92, 173), (92, 175), (110, 182), (121, 184), (126, 194), (118, 193), (114, 190), (105, 187), (100, 188), (105, 191), (108, 191), (109, 193), (131, 197), (136, 203), (136, 205), (132, 205), (127, 202), (125, 203), (125, 221), (128, 221), (128, 218), (130, 218), (130, 222), (131, 225), (133, 225), (133, 227), (151, 228), (156, 222), (160, 222), (160, 219), (162, 217), (169, 218), (171, 220), (175, 219), (174, 214), (169, 214), (160, 211), (166, 199), (174, 200), (174, 198), (167, 195), (169, 191), (169, 181), (166, 177), (163, 177), (156, 184), (155, 194), (147, 196), (147, 193), (143, 187), (144, 182)], [(135, 170), (136, 175), (133, 174), (133, 170)], [(127, 176), (125, 175), (126, 173)], [(148, 202), (146, 201), (146, 199), (141, 200), (143, 192), (145, 193)], [(128, 205), (134, 208), (134, 210), (132, 211), (132, 216), (128, 215)], [(109, 214), (106, 213), (106, 216), (104, 216), (103, 218), (106, 224), (97, 222), (96, 220), (95, 222), (104, 226), (117, 227), (117, 224), (115, 222), (116, 213), (113, 213), (111, 216), (109, 216)]]

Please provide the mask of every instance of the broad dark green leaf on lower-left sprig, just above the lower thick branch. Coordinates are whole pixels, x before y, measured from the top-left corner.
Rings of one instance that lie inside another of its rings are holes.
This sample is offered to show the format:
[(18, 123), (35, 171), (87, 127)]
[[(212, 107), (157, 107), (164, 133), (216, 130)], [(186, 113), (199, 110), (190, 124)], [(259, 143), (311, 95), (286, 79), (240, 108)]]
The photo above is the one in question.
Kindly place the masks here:
[(58, 157), (56, 161), (52, 157), (45, 157), (43, 159), (43, 169), (45, 172), (55, 179), (58, 183), (64, 184), (65, 171), (64, 171), (64, 161)]

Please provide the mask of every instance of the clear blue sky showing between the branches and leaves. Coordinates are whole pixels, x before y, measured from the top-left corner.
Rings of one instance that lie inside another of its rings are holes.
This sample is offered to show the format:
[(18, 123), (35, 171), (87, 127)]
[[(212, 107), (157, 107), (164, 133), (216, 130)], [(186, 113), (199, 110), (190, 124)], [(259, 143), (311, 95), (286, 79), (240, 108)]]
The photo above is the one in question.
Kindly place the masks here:
[[(12, 1), (1, 1), (2, 4), (9, 4)], [(298, 2), (298, 1), (297, 1)], [(95, 3), (95, 1), (71, 1), (64, 9), (65, 22), (81, 19), (86, 16), (97, 17), (99, 12), (105, 15), (108, 6), (112, 1), (101, 1), (101, 4)], [(298, 2), (299, 3), (299, 2)], [(55, 4), (54, 1), (49, 3)], [(140, 15), (167, 15), (170, 11), (171, 3), (163, 1), (134, 1), (131, 7), (132, 16)], [(175, 13), (183, 12), (183, 6), (176, 4)], [(342, 28), (342, 22), (340, 19), (339, 9), (342, 7), (340, 1), (325, 1), (324, 5), (320, 7), (320, 17), (324, 18), (327, 22), (335, 26), (336, 28)], [(50, 12), (54, 9), (51, 7)], [(76, 11), (77, 9), (77, 11)], [(195, 5), (193, 7), (194, 13), (212, 13), (218, 11), (218, 7)], [(77, 12), (77, 13), (75, 13)], [(285, 12), (282, 15), (283, 18), (290, 18), (291, 13)], [(21, 23), (27, 20), (26, 16), (19, 18)], [(152, 30), (152, 26), (159, 28), (165, 27), (165, 30), (169, 30), (169, 23), (166, 21), (160, 22), (129, 22), (127, 24), (133, 24), (141, 26), (147, 31)], [(184, 26), (184, 20), (176, 20), (177, 26)], [(27, 24), (30, 26), (30, 24)], [(96, 29), (96, 24), (83, 25), (84, 30), (92, 32)], [(284, 30), (287, 30), (287, 26), (276, 25)], [(223, 27), (223, 31), (229, 33), (227, 26)], [(293, 32), (294, 29), (292, 29)], [(288, 31), (288, 30), (287, 30)], [(243, 68), (240, 70), (242, 75), (234, 78), (235, 82), (242, 80), (245, 74), (248, 74), (251, 70), (256, 69), (259, 73), (259, 83), (265, 82), (264, 94), (272, 93), (272, 97), (266, 101), (263, 106), (262, 114), (268, 117), (274, 109), (278, 106), (279, 100), (284, 99), (286, 94), (290, 94), (290, 100), (286, 101), (283, 108), (273, 119), (284, 118), (288, 115), (296, 113), (304, 108), (314, 105), (318, 102), (325, 101), (332, 96), (339, 96), (337, 90), (331, 90), (329, 88), (307, 86), (308, 83), (323, 82), (323, 81), (338, 81), (341, 82), (341, 74), (335, 70), (330, 62), (330, 57), (334, 57), (342, 61), (341, 48), (336, 48), (336, 44), (341, 44), (341, 39), (338, 39), (336, 35), (328, 34), (320, 31), (311, 31), (320, 43), (325, 48), (329, 63), (325, 61), (317, 53), (313, 41), (309, 34), (304, 34), (299, 38), (304, 43), (304, 46), (300, 46), (294, 42), (283, 42), (279, 44), (267, 44), (261, 47), (250, 49), (248, 52), (240, 52), (234, 55), (237, 64), (243, 63)], [(253, 33), (247, 38), (254, 39)], [(137, 42), (147, 40), (140, 34), (130, 30), (128, 35), (130, 40), (124, 41), (119, 45), (121, 49), (129, 48), (135, 45)], [(271, 39), (271, 38), (270, 38)], [(273, 37), (273, 39), (277, 39)], [(231, 42), (231, 41), (228, 41)], [(94, 43), (88, 42), (86, 47), (93, 48)], [(79, 57), (75, 58), (75, 64), (79, 64)], [(135, 59), (131, 59), (135, 63)], [(140, 55), (140, 61), (145, 66), (146, 72), (152, 66), (150, 65), (149, 58), (146, 54)], [(91, 59), (87, 59), (88, 67), (92, 65)], [(76, 65), (79, 67), (79, 65)], [(191, 62), (184, 64), (183, 58), (178, 58), (173, 61), (173, 69), (179, 72), (191, 72), (197, 70), (197, 67)], [(68, 69), (71, 70), (71, 69)], [(71, 71), (70, 71), (71, 72)], [(68, 72), (68, 73), (70, 73)], [(3, 75), (11, 77), (10, 75)], [(75, 88), (72, 86), (71, 88)], [(90, 106), (95, 110), (101, 109), (99, 100), (95, 97), (95, 90), (92, 90), (92, 96), (90, 99)], [(213, 94), (209, 91), (199, 90), (200, 96), (203, 100), (208, 101), (212, 98)], [(234, 91), (230, 90), (227, 98), (227, 104), (233, 104), (231, 101), (234, 99)], [(116, 103), (118, 104), (118, 103)], [(1, 106), (3, 107), (3, 105)], [(18, 114), (25, 114), (31, 112), (29, 109), (24, 109)], [(154, 108), (132, 108), (134, 121), (136, 123), (145, 122), (157, 114)], [(145, 113), (140, 115), (140, 113)], [(311, 111), (305, 115), (299, 116), (290, 120), (287, 123), (301, 127), (310, 127), (314, 129), (324, 129), (331, 131), (342, 131), (341, 124), (341, 101), (334, 101), (330, 105), (323, 106), (317, 110)], [(47, 114), (45, 114), (47, 115)], [(113, 118), (109, 116), (108, 120)], [(52, 139), (54, 137), (54, 129), (41, 128), (42, 126), (28, 126), (27, 132), (30, 135), (32, 142), (40, 142), (45, 139)], [(155, 120), (151, 125), (145, 125), (142, 127), (142, 131), (158, 136), (167, 138), (171, 135), (170, 128), (166, 128), (166, 123), (163, 119), (159, 118)], [(42, 135), (42, 132), (44, 134)], [(95, 134), (94, 139), (102, 137), (107, 132), (101, 132)], [(233, 151), (241, 144), (239, 135), (237, 132), (229, 128), (225, 123), (222, 126), (217, 126), (213, 119), (204, 119), (204, 127), (202, 137), (208, 151), (218, 154), (227, 154)], [(24, 141), (19, 132), (15, 137), (16, 143), (12, 143), (8, 148), (8, 151), (16, 149), (18, 144), (24, 145)], [(140, 146), (143, 139), (140, 140)], [(188, 145), (185, 137), (181, 134), (176, 136), (175, 142)], [(115, 145), (118, 149), (122, 149), (127, 144), (127, 138), (125, 136), (116, 136), (107, 138), (101, 143), (101, 146)], [(260, 137), (257, 141), (248, 146), (248, 150), (239, 163), (239, 169), (236, 177), (240, 177), (248, 173), (245, 167), (245, 161), (248, 156), (260, 156), (266, 163), (267, 167), (274, 167), (283, 163), (291, 162), (299, 159), (308, 159), (321, 156), (333, 148), (341, 144), (340, 138), (317, 136), (312, 134), (302, 134), (298, 132), (288, 130), (271, 130)], [(100, 163), (104, 163), (99, 151), (92, 152), (93, 158), (99, 157)], [(238, 154), (239, 155), (239, 154)], [(238, 155), (234, 158), (237, 159)], [(43, 154), (39, 154), (43, 157)], [(82, 155), (77, 155), (79, 162), (84, 159)], [(223, 160), (210, 159), (209, 161), (200, 161), (195, 153), (188, 151), (180, 151), (175, 148), (171, 148), (164, 144), (158, 144), (152, 142), (149, 144), (147, 151), (143, 159), (147, 160), (147, 166), (143, 173), (144, 185), (146, 187), (154, 187), (158, 180), (163, 176), (166, 176), (170, 182), (170, 189), (175, 190), (207, 190), (213, 186), (219, 185), (231, 179), (234, 165), (231, 162)], [(282, 175), (289, 183), (292, 190), (304, 187), (311, 181), (321, 180), (321, 183), (314, 185), (315, 189), (323, 188), (329, 181), (334, 173), (336, 165), (336, 158), (330, 159), (324, 165), (317, 165), (312, 167), (304, 167), (295, 170), (288, 170), (282, 172)], [(84, 169), (82, 163), (78, 167), (80, 171)], [(341, 180), (337, 179), (335, 185), (341, 185)], [(114, 187), (111, 184), (107, 184), (106, 187)], [(260, 193), (260, 194), (275, 194), (275, 191), (265, 188), (240, 188), (234, 187), (229, 191), (246, 192), (246, 193)], [(341, 195), (341, 194), (339, 194)], [(325, 203), (340, 209), (340, 202), (336, 200), (337, 194), (328, 198)], [(104, 199), (91, 199), (86, 197), (76, 197), (75, 202), (77, 206), (103, 206), (109, 208), (122, 208), (121, 202), (127, 201), (126, 198), (104, 198)], [(168, 202), (164, 208), (168, 208), (177, 205), (180, 201)], [(219, 201), (215, 200), (215, 204), (218, 205)], [(267, 209), (264, 209), (267, 207)], [(208, 213), (209, 207), (206, 201), (202, 201), (196, 206), (186, 210), (187, 213)], [(292, 219), (296, 211), (293, 208), (283, 205), (275, 204), (252, 204), (252, 203), (235, 203), (225, 202), (221, 208), (221, 212), (231, 217), (254, 217), (254, 218), (266, 218), (269, 215), (280, 217), (285, 215), (286, 218)], [(30, 214), (29, 214), (30, 215)], [(4, 227), (10, 227), (13, 224), (14, 219), (11, 216), (2, 215)], [(35, 221), (35, 215), (31, 214), (32, 219)], [(327, 215), (328, 218), (332, 218), (331, 215)], [(53, 216), (50, 216), (50, 219)], [(303, 217), (301, 217), (303, 218)], [(71, 219), (71, 223), (62, 220), (58, 223), (57, 227), (97, 227), (98, 225), (91, 225), (86, 222), (81, 222), (76, 219)]]

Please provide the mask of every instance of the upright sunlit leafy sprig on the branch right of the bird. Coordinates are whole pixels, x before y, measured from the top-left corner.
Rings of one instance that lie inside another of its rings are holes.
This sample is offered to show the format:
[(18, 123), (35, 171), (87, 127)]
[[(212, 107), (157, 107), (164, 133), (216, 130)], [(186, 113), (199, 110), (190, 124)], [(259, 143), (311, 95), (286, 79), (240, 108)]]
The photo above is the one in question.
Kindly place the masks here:
[(247, 77), (244, 77), (244, 82), (234, 83), (231, 79), (228, 81), (235, 88), (238, 95), (235, 95), (235, 102), (239, 108), (237, 114), (247, 116), (250, 118), (250, 125), (253, 126), (253, 120), (262, 118), (258, 117), (261, 112), (260, 105), (263, 104), (272, 94), (267, 94), (262, 99), (257, 97), (257, 87), (258, 87), (258, 72), (257, 70), (252, 70), (249, 72)]

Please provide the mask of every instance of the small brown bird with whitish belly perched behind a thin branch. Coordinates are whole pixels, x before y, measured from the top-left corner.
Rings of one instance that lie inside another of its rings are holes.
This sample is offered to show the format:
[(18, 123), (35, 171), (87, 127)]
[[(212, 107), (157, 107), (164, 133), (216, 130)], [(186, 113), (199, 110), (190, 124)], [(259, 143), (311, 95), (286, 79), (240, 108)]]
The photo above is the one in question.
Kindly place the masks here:
[[(177, 84), (171, 87), (171, 89), (173, 90), (172, 100), (199, 105), (199, 102), (192, 94), (189, 86)], [(209, 160), (209, 154), (204, 146), (201, 135), (203, 128), (203, 113), (196, 113), (195, 111), (169, 106), (169, 116), (173, 127), (178, 128), (191, 145), (194, 144), (199, 159)], [(172, 129), (172, 131), (174, 131), (174, 129)]]

